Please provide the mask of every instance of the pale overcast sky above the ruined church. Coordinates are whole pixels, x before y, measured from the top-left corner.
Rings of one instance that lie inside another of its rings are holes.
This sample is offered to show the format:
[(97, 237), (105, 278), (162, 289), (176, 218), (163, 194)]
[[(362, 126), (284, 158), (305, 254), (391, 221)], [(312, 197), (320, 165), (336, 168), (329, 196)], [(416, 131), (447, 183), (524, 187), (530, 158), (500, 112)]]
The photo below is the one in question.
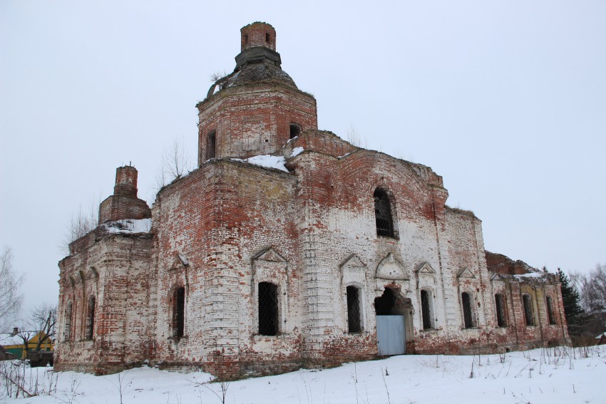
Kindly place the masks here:
[(195, 162), (195, 104), (253, 21), (320, 129), (432, 167), (486, 249), (606, 262), (606, 1), (291, 3), (0, 0), (0, 246), (26, 309), (57, 300), (66, 224), (115, 167), (151, 204), (173, 140)]

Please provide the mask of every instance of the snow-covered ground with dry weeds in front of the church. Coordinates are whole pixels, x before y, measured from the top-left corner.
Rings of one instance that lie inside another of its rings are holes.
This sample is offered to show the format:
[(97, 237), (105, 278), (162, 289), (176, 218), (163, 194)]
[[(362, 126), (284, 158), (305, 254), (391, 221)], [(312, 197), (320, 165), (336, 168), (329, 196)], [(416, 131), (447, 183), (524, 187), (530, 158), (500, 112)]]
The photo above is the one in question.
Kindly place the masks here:
[[(137, 368), (115, 375), (38, 375), (32, 398), (1, 403), (606, 403), (606, 348), (545, 348), (481, 356), (394, 356), (232, 383), (208, 383), (207, 373)], [(56, 378), (48, 395), (48, 386)], [(1, 380), (6, 392), (6, 380)], [(35, 383), (34, 383), (35, 384)], [(120, 400), (120, 385), (122, 395)], [(225, 401), (222, 388), (226, 389)], [(21, 395), (20, 395), (21, 396)]]

